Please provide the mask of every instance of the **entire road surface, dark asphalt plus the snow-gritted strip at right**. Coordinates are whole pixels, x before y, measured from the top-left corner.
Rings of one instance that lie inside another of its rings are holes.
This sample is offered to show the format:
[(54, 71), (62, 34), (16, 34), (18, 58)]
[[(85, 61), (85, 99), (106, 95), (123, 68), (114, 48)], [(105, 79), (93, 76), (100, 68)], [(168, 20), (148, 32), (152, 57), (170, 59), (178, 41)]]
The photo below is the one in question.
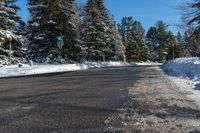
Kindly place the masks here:
[(156, 66), (0, 78), (0, 133), (200, 132)]

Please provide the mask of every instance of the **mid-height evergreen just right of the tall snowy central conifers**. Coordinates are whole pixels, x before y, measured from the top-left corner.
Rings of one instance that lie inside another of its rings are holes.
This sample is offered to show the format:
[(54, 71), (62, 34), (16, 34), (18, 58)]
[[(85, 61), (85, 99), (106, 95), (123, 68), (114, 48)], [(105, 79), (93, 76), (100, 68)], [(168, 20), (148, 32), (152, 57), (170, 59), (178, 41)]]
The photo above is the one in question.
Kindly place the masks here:
[(118, 24), (119, 32), (126, 47), (126, 58), (130, 61), (146, 61), (148, 49), (145, 44), (145, 31), (140, 22), (132, 17), (124, 17)]

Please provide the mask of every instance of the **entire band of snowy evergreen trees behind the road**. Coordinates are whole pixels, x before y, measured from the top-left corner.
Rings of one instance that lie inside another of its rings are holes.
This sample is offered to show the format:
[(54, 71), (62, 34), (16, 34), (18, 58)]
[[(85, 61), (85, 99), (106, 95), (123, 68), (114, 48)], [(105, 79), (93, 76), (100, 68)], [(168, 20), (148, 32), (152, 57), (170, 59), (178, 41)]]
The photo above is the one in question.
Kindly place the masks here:
[[(147, 31), (133, 17), (116, 23), (103, 0), (28, 0), (30, 19), (17, 0), (0, 0), (0, 64), (82, 61), (165, 62), (200, 56), (200, 0), (180, 3), (182, 32), (158, 20)], [(61, 39), (61, 40), (60, 40)], [(63, 46), (58, 47), (58, 42)]]

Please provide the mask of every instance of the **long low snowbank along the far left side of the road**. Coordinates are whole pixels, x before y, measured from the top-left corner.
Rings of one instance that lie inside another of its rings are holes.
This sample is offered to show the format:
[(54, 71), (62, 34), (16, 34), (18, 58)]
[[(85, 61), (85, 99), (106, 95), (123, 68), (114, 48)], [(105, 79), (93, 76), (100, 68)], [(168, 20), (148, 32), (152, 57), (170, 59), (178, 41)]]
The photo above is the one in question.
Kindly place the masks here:
[(129, 66), (129, 65), (130, 64), (124, 62), (85, 62), (81, 64), (63, 64), (63, 65), (39, 64), (33, 66), (22, 64), (22, 67), (18, 67), (18, 65), (0, 67), (0, 77), (77, 71), (77, 70), (86, 70), (90, 68)]

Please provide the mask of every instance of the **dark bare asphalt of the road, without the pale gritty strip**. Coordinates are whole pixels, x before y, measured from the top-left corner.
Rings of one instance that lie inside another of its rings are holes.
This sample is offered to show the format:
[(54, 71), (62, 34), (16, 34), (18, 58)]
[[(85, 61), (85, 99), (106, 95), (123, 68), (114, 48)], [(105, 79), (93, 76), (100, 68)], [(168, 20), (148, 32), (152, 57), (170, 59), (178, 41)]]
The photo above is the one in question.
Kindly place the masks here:
[[(137, 68), (137, 69), (135, 69)], [(0, 133), (109, 132), (139, 67), (0, 78)], [(112, 130), (115, 132), (114, 130)]]

